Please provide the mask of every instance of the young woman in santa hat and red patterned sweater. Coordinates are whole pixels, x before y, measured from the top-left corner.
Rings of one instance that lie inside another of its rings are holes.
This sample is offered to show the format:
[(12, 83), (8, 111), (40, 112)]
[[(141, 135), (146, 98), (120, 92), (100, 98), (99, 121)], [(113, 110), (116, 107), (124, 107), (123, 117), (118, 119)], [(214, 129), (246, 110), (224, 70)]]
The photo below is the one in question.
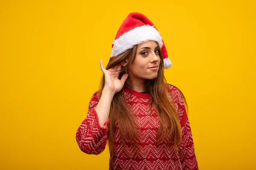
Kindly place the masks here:
[(198, 170), (186, 99), (164, 77), (171, 65), (153, 23), (129, 14), (106, 68), (100, 61), (101, 89), (76, 132), (79, 148), (98, 155), (108, 142), (110, 170)]

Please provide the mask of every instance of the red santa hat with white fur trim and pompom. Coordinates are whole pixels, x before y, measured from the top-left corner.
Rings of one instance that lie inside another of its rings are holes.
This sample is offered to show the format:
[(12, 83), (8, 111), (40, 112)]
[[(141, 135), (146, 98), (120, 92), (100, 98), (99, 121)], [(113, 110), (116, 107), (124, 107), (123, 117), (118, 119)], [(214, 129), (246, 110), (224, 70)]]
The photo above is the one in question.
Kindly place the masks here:
[(149, 40), (154, 40), (158, 43), (163, 52), (164, 68), (170, 68), (172, 62), (168, 58), (167, 50), (160, 33), (145, 15), (137, 12), (130, 13), (123, 21), (112, 43), (111, 54), (117, 56), (134, 45)]

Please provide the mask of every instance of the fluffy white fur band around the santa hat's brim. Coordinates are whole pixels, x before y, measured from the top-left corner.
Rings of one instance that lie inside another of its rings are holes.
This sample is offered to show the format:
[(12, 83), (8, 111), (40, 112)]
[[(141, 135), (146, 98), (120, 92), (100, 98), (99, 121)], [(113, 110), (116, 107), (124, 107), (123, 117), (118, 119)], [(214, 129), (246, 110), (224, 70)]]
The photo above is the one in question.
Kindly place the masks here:
[(113, 56), (117, 56), (129, 48), (133, 48), (134, 45), (141, 44), (149, 40), (156, 41), (160, 48), (162, 48), (162, 37), (154, 26), (144, 25), (136, 27), (125, 32), (118, 39), (114, 40), (111, 54), (113, 54)]

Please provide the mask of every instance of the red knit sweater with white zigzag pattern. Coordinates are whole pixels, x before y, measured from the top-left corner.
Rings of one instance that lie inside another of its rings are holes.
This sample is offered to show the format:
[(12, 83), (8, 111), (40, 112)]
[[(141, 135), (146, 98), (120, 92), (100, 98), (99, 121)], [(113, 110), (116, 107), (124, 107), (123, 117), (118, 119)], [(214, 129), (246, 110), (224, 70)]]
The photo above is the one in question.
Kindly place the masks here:
[[(139, 133), (141, 144), (139, 153), (135, 153), (128, 146), (131, 152), (127, 153), (121, 143), (118, 123), (116, 123), (116, 133), (114, 140), (114, 156), (109, 162), (109, 170), (199, 170), (195, 156), (194, 142), (191, 127), (183, 98), (180, 91), (172, 85), (168, 85), (172, 91), (174, 101), (169, 93), (170, 99), (175, 103), (175, 108), (182, 127), (181, 147), (183, 150), (175, 150), (173, 144), (156, 144), (156, 135), (159, 127), (159, 117), (153, 116), (156, 113), (154, 105), (152, 111), (148, 107), (150, 94), (140, 93), (125, 87), (123, 91), (131, 98), (126, 101), (137, 116), (141, 131)], [(79, 126), (76, 132), (76, 142), (81, 151), (87, 154), (98, 155), (105, 150), (108, 140), (108, 120), (100, 126), (99, 118), (95, 107), (99, 101), (99, 91), (96, 91), (89, 103), (87, 117)], [(127, 147), (127, 146), (126, 146)]]

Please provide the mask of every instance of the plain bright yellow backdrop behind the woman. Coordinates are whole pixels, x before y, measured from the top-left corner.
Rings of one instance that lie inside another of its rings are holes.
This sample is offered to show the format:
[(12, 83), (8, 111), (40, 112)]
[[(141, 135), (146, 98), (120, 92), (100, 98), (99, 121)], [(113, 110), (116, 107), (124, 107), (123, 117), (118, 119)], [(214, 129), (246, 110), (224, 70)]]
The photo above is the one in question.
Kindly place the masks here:
[(107, 170), (76, 130), (99, 88), (99, 60), (130, 12), (158, 28), (185, 95), (201, 170), (255, 170), (252, 0), (0, 2), (1, 170)]

